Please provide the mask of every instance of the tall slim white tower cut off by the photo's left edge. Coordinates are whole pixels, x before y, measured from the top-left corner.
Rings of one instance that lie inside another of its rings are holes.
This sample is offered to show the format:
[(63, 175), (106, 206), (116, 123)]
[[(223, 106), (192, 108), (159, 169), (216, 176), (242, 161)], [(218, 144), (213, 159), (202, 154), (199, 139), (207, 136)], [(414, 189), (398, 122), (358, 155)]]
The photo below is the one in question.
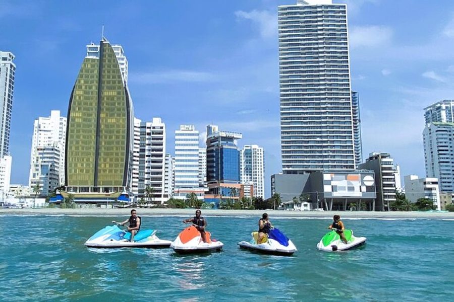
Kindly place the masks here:
[(0, 50), (0, 158), (9, 155), (11, 112), (13, 109), (15, 56), (8, 51)]

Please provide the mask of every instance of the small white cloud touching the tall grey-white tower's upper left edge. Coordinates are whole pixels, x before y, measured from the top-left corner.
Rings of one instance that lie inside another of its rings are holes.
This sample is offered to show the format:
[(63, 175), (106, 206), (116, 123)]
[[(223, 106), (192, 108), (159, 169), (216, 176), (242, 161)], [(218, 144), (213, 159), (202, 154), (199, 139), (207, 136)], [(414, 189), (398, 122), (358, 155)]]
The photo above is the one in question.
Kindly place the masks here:
[(259, 30), (260, 36), (264, 39), (277, 37), (277, 14), (270, 11), (235, 12), (238, 20), (247, 19), (254, 22)]

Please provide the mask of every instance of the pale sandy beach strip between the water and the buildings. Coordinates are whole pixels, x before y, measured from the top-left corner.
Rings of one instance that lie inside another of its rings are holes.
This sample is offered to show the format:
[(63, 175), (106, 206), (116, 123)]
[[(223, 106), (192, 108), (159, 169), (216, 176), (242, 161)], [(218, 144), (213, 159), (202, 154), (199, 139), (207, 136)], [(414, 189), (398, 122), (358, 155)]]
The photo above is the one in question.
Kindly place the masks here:
[[(171, 209), (171, 208), (136, 208), (139, 215), (148, 216), (191, 216), (195, 209)], [(129, 215), (131, 208), (5, 208), (0, 209), (0, 215), (72, 215), (72, 216), (124, 216)], [(285, 210), (212, 210), (202, 209), (204, 216), (261, 216), (267, 212), (271, 217), (286, 218), (332, 218), (334, 214), (342, 218), (427, 218), (427, 219), (453, 219), (454, 212), (371, 212), (371, 211), (285, 211)]]

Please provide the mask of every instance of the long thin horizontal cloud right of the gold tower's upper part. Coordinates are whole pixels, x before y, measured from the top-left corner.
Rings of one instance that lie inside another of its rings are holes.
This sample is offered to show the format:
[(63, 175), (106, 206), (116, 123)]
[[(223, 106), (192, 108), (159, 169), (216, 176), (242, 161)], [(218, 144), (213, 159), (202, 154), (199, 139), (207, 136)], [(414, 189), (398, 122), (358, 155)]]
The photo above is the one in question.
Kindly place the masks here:
[(216, 75), (194, 70), (164, 70), (130, 73), (130, 81), (138, 84), (162, 84), (173, 82), (214, 82)]

